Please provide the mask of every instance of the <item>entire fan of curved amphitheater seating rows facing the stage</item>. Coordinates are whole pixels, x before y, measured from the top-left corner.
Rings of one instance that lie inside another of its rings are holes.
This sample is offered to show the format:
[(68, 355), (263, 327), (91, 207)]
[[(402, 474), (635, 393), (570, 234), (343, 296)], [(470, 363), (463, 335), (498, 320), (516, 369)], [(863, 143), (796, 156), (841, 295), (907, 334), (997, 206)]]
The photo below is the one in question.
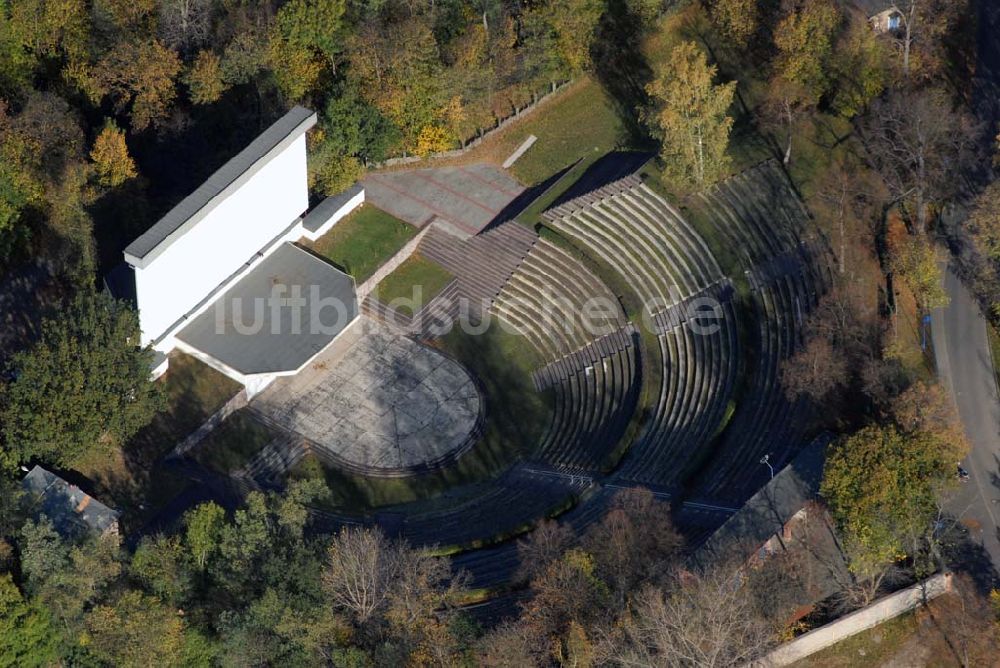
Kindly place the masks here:
[[(557, 515), (583, 528), (624, 487), (669, 499), (697, 543), (767, 481), (764, 456), (777, 469), (807, 444), (811, 407), (786, 398), (779, 368), (829, 286), (829, 251), (781, 165), (736, 174), (684, 209), (635, 170), (572, 192), (534, 227), (500, 219), (457, 235), (431, 226), (419, 246), (455, 276), (424, 307), (426, 320), (454, 317), (463, 300), (480, 304), (542, 360), (531, 381), (552, 409), (534, 453), (431, 510), (315, 519), (379, 523), (447, 546), (476, 586), (493, 587), (517, 566), (511, 537)], [(585, 312), (590, 326), (578, 326)], [(430, 329), (407, 333), (414, 350), (432, 343)], [(447, 435), (441, 465), (474, 447), (459, 432), (478, 434), (474, 383), (455, 391), (461, 428)], [(266, 450), (248, 471), (274, 482), (268, 460), (280, 457)]]

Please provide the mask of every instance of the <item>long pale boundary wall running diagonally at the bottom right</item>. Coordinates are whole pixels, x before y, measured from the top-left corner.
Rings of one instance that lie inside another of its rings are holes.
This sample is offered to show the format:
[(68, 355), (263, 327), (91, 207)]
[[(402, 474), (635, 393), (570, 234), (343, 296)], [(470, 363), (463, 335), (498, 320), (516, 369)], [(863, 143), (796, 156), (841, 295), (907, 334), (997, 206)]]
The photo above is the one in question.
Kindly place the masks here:
[(924, 601), (951, 591), (951, 573), (941, 573), (918, 582), (912, 587), (880, 598), (835, 622), (813, 629), (768, 654), (758, 665), (761, 668), (788, 666), (845, 638), (878, 626), (884, 621), (913, 610)]

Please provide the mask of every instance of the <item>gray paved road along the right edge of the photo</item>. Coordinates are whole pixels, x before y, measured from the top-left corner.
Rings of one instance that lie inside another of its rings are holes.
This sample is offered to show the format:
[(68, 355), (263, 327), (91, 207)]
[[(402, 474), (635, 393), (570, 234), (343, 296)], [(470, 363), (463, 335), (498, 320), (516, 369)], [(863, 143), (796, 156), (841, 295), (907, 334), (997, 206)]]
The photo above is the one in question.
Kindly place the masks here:
[(933, 314), (934, 352), (941, 381), (952, 390), (972, 446), (963, 462), (970, 480), (957, 490), (949, 510), (972, 528), (1000, 571), (1000, 400), (986, 322), (950, 270), (945, 289), (951, 303)]

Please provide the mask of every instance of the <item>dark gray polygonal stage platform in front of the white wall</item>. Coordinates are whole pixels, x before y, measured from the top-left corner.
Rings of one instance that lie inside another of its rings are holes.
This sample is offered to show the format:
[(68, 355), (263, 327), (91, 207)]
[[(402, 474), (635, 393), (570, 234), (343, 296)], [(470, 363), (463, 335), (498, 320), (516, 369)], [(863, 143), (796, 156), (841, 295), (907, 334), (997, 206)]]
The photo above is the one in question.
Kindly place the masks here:
[[(276, 286), (282, 289), (274, 292)], [(296, 291), (303, 299), (300, 307), (286, 302), (272, 309), (272, 294), (287, 299)], [(237, 309), (239, 322), (234, 317)], [(245, 375), (295, 371), (329, 345), (357, 315), (354, 279), (286, 242), (182, 329), (177, 338)], [(314, 318), (320, 327), (313, 327)]]

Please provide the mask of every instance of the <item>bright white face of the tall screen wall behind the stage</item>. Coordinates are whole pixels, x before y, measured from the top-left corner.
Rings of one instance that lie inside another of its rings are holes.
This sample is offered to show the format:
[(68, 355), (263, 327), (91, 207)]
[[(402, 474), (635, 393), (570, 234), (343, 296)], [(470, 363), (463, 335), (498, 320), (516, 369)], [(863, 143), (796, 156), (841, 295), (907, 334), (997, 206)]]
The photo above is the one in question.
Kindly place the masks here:
[(271, 158), (145, 268), (135, 268), (143, 345), (284, 232), (309, 206), (306, 138)]

